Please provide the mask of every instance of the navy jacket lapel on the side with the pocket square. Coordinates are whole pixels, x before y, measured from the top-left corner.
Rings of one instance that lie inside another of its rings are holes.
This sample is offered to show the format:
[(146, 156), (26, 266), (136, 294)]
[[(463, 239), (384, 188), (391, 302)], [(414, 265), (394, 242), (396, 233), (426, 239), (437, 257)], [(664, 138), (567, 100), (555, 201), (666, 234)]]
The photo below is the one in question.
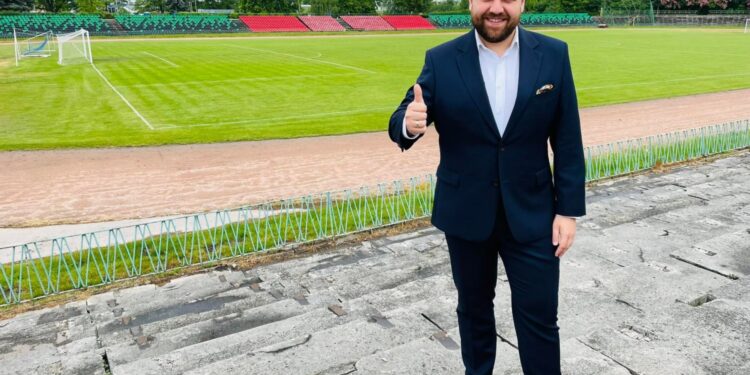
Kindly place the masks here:
[(510, 132), (517, 126), (518, 120), (523, 113), (529, 99), (536, 94), (535, 84), (539, 70), (542, 67), (542, 53), (536, 49), (539, 44), (534, 36), (522, 27), (518, 27), (518, 44), (521, 47), (521, 55), (518, 64), (518, 93), (510, 114), (508, 125), (505, 127), (504, 136), (508, 137)]

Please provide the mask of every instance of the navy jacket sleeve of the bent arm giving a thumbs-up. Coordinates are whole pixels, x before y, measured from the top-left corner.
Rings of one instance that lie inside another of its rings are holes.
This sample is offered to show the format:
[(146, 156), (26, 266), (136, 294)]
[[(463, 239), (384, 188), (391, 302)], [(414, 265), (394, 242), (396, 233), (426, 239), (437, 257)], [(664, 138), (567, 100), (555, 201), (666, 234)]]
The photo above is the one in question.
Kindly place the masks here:
[[(422, 87), (422, 97), (424, 98), (424, 102), (427, 105), (427, 126), (429, 126), (433, 121), (432, 104), (433, 98), (435, 97), (435, 74), (432, 67), (430, 51), (427, 51), (427, 53), (425, 53), (424, 66), (422, 67), (422, 72), (417, 78), (417, 83), (419, 83), (419, 85)], [(422, 138), (421, 134), (414, 139), (406, 138), (403, 134), (406, 107), (413, 100), (414, 87), (411, 86), (408, 90), (406, 90), (404, 99), (401, 101), (401, 104), (398, 106), (398, 108), (396, 108), (396, 110), (393, 112), (388, 123), (388, 135), (391, 137), (391, 140), (393, 142), (396, 142), (396, 144), (401, 148), (401, 151), (408, 150), (414, 144), (414, 142), (416, 142), (419, 138)]]

